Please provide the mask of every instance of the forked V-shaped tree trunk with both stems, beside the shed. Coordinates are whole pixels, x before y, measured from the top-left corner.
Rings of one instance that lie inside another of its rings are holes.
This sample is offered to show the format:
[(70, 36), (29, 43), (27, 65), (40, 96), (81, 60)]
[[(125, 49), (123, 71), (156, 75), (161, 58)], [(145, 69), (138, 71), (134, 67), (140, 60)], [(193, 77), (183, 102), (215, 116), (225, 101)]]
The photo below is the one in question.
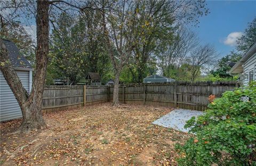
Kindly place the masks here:
[(10, 63), (7, 50), (1, 43), (1, 71), (9, 84), (22, 111), (22, 124), (20, 132), (40, 129), (46, 126), (42, 116), (42, 100), (49, 53), (49, 1), (37, 1), (37, 48), (36, 48), (36, 73), (33, 89), (30, 95), (23, 88), (19, 77)]

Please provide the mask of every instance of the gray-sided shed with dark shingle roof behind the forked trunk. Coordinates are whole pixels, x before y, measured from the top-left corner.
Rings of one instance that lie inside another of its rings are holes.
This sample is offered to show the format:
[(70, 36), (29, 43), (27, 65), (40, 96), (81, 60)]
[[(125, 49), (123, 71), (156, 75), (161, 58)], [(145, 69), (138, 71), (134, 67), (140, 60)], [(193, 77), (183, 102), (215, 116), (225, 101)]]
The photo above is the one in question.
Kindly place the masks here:
[[(3, 40), (11, 63), (17, 73), (23, 87), (30, 93), (32, 88), (32, 71), (34, 70), (28, 60), (19, 54), (19, 49), (9, 40)], [(20, 106), (7, 84), (2, 72), (0, 72), (0, 121), (21, 118)]]

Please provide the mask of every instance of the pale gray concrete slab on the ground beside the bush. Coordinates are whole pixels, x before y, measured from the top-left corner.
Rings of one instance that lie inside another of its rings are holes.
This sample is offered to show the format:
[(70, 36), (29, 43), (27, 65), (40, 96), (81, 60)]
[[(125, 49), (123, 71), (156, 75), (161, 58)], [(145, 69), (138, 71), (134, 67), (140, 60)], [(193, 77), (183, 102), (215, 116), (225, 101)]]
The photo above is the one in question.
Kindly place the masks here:
[(195, 110), (187, 110), (187, 109), (175, 109), (170, 113), (162, 116), (161, 118), (153, 121), (153, 124), (170, 127), (176, 130), (180, 130), (181, 132), (188, 132), (189, 129), (185, 129), (184, 125), (186, 121), (191, 117), (202, 115), (204, 112), (195, 111)]

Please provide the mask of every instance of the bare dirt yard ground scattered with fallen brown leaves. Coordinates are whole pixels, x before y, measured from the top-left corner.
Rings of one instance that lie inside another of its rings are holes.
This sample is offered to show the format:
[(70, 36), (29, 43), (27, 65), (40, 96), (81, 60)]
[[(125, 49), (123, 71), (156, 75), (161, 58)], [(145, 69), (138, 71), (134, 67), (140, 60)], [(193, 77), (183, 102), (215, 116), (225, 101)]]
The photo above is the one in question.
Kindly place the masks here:
[(110, 103), (44, 115), (49, 127), (14, 134), (0, 124), (0, 165), (177, 165), (175, 143), (188, 134), (151, 124), (172, 108)]

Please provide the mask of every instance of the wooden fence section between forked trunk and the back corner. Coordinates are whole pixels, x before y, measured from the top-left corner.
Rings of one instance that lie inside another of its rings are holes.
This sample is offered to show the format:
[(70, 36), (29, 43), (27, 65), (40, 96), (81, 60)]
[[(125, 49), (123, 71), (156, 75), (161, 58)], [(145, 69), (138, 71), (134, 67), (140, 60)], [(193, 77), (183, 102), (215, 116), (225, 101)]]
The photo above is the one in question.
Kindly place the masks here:
[(109, 86), (45, 86), (42, 109), (43, 112), (51, 112), (107, 102), (109, 99), (108, 92)]

